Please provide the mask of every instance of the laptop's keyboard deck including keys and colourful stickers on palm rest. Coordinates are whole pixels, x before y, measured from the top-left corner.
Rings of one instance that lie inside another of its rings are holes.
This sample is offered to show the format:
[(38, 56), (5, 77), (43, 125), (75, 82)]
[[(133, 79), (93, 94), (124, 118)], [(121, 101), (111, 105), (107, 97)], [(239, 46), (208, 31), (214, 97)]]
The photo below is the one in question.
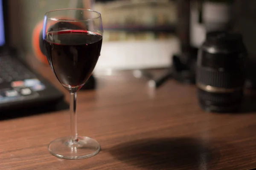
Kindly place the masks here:
[(35, 99), (45, 85), (18, 59), (0, 54), (0, 104)]

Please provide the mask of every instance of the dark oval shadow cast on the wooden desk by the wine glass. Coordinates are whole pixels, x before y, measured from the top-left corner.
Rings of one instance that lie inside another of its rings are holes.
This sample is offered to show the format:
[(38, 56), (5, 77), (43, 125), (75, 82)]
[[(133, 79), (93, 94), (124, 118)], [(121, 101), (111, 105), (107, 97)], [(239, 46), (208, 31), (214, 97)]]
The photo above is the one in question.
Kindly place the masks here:
[(220, 158), (218, 150), (193, 138), (142, 139), (119, 144), (109, 152), (145, 170), (212, 169)]

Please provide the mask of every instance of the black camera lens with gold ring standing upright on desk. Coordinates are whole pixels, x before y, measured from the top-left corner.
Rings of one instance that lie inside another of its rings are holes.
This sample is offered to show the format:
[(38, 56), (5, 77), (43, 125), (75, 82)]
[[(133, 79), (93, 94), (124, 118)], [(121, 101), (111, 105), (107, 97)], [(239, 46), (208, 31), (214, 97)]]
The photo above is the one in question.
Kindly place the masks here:
[(247, 52), (240, 34), (210, 32), (198, 51), (196, 85), (201, 108), (235, 112), (241, 106)]

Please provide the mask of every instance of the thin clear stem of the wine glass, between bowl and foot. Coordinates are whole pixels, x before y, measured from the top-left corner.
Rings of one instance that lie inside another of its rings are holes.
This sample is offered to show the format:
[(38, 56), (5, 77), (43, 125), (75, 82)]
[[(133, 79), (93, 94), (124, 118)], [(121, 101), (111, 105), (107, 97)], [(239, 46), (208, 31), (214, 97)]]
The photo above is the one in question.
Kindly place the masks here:
[(76, 93), (70, 93), (70, 129), (71, 140), (77, 141), (77, 127), (76, 127)]

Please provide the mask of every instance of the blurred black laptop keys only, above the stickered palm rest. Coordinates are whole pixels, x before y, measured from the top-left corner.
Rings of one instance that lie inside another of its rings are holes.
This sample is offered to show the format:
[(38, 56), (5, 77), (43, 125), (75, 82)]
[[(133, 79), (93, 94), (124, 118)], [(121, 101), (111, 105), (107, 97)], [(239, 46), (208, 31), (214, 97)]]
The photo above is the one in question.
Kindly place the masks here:
[(17, 59), (9, 55), (0, 57), (0, 84), (33, 78), (36, 76)]

